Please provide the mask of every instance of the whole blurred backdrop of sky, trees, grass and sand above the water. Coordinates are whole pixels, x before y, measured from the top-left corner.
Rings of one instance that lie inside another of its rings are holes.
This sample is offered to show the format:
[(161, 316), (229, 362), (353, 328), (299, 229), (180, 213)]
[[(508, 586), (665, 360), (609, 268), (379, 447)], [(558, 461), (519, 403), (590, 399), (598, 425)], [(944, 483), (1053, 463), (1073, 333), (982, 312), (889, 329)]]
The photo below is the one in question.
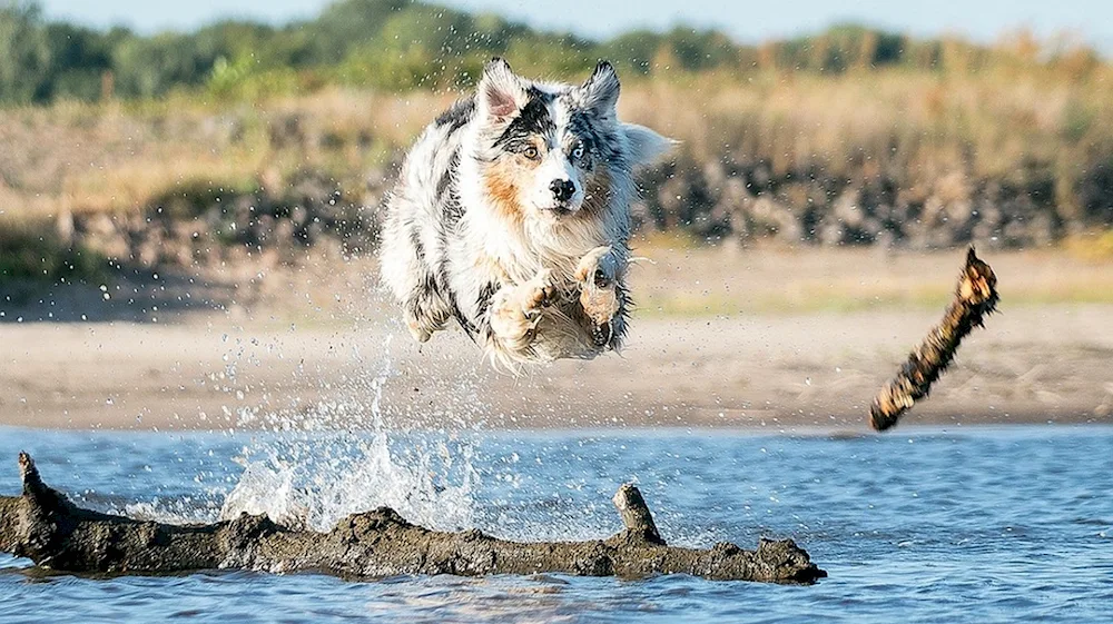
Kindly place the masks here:
[(975, 244), (1007, 314), (925, 417), (1107, 419), (1111, 52), (1081, 1), (0, 0), (0, 419), (213, 426), (377, 367), (384, 194), (492, 56), (609, 59), (680, 141), (640, 178), (634, 335), (525, 382), (405, 337), (391, 383), (472, 372), (508, 426), (858, 422)]

